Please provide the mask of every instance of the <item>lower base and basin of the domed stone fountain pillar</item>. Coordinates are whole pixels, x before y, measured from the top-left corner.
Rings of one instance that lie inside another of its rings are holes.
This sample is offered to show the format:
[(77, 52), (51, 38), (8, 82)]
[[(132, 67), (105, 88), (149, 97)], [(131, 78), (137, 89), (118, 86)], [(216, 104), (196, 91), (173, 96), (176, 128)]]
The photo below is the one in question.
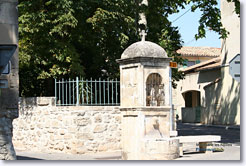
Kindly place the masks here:
[(179, 140), (170, 138), (170, 107), (121, 108), (122, 159), (172, 160), (179, 157)]

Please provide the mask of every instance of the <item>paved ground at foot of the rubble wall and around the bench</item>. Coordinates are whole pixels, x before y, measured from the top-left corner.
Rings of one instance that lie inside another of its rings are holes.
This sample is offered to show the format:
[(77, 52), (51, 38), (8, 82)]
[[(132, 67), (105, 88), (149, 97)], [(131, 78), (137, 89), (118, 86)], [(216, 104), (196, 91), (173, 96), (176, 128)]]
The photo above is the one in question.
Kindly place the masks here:
[[(185, 135), (220, 135), (221, 142), (216, 147), (223, 152), (203, 154), (197, 152), (196, 143), (184, 144), (184, 155), (176, 160), (240, 160), (240, 130), (238, 128), (207, 127), (199, 124), (178, 124), (180, 136)], [(18, 160), (120, 160), (121, 152), (96, 153), (86, 155), (70, 155), (62, 153), (37, 153), (19, 151), (16, 149)]]

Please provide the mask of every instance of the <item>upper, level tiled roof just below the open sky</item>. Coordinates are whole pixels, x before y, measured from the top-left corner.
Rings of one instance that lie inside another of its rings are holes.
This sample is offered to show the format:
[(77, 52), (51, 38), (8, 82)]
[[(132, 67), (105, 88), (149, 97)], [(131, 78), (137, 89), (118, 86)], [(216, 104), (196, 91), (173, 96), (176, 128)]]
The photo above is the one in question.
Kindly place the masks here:
[(218, 57), (221, 49), (215, 47), (182, 47), (177, 50), (177, 53), (182, 56)]

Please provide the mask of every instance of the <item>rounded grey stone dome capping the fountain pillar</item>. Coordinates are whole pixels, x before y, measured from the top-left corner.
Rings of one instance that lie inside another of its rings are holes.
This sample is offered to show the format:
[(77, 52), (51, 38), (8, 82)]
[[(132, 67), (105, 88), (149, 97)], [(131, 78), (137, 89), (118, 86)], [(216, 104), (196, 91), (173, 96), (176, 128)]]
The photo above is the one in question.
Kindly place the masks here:
[(150, 41), (133, 43), (121, 55), (121, 59), (135, 57), (168, 58), (166, 51), (161, 46)]

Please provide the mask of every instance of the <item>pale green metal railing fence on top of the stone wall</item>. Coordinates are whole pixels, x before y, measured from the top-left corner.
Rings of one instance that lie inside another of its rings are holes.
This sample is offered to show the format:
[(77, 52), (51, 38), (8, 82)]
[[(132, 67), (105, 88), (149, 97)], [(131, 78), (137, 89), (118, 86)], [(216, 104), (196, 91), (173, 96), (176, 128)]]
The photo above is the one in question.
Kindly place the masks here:
[(120, 81), (55, 79), (57, 106), (117, 106), (120, 105)]

